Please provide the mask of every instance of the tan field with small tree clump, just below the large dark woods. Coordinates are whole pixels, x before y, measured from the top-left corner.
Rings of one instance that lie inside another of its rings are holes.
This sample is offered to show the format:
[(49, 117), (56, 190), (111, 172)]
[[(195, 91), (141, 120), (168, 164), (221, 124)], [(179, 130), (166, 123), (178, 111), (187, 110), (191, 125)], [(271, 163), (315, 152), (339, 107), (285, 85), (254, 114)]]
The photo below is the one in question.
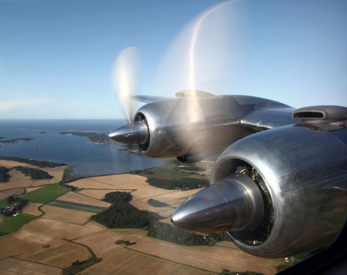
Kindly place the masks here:
[(115, 244), (117, 240), (137, 242), (146, 235), (147, 231), (141, 229), (112, 229), (99, 231), (74, 241), (88, 246), (97, 257), (104, 258), (110, 252), (123, 247)]

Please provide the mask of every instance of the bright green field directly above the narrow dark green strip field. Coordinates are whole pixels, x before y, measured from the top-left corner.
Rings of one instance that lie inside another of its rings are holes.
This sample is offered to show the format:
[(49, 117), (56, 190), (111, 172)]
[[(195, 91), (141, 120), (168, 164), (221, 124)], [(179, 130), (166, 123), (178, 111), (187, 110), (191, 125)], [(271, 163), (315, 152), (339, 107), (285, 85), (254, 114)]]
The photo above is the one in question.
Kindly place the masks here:
[(46, 185), (40, 189), (34, 190), (30, 193), (19, 195), (24, 200), (29, 200), (33, 203), (48, 203), (61, 195), (71, 191), (70, 188), (64, 187), (60, 184)]

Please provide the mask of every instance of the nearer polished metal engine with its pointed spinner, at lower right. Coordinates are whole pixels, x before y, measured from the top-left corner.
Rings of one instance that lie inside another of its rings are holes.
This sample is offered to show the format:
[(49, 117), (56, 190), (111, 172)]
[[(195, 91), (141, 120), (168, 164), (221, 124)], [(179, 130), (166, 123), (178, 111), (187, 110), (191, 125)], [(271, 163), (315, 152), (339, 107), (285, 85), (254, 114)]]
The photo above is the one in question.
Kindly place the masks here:
[(239, 248), (260, 257), (330, 244), (347, 213), (347, 129), (314, 124), (283, 126), (233, 143), (217, 159), (210, 186), (183, 202), (173, 223), (199, 232), (227, 231)]

